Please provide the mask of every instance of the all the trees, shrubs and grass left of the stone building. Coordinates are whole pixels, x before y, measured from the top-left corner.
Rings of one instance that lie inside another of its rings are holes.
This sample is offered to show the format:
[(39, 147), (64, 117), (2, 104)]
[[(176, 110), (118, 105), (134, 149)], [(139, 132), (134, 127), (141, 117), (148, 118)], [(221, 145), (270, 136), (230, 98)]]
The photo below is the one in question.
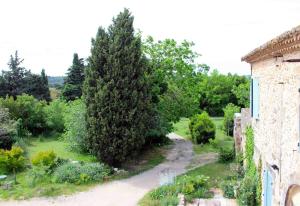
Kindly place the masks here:
[(222, 186), (217, 177), (233, 176), (233, 115), (249, 106), (248, 78), (210, 72), (193, 42), (142, 39), (133, 21), (125, 9), (99, 27), (90, 57), (75, 53), (64, 83), (49, 78), (51, 90), (44, 70), (32, 74), (11, 56), (0, 76), (0, 175), (8, 176), (0, 198), (70, 194), (152, 168), (164, 161), (174, 128), (196, 154), (218, 152), (220, 162), (152, 191), (143, 204), (173, 205), (178, 193), (210, 197), (210, 187)]

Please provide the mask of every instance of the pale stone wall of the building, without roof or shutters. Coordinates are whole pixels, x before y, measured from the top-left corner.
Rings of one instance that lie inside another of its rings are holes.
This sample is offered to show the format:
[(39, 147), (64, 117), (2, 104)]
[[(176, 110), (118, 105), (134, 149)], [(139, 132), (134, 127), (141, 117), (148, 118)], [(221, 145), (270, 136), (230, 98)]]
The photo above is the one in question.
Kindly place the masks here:
[(294, 52), (252, 64), (252, 77), (259, 79), (259, 118), (251, 120), (254, 158), (272, 173), (274, 206), (285, 205), (288, 188), (300, 184), (300, 63), (284, 61), (299, 56)]

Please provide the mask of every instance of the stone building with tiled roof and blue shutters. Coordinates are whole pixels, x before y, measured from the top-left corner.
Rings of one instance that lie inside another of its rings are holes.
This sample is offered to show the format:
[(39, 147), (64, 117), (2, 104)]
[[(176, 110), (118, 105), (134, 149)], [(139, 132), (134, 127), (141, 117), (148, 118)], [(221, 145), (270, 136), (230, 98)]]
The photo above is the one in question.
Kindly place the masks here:
[(251, 64), (255, 162), (263, 205), (300, 205), (300, 26), (242, 58)]

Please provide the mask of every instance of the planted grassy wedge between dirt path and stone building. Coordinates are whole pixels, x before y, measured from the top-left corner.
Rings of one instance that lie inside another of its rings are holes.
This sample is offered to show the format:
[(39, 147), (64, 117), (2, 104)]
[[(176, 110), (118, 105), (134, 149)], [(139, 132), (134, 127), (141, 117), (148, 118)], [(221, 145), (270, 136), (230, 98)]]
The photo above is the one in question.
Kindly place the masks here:
[(147, 193), (139, 202), (141, 206), (177, 205), (179, 193), (186, 195), (187, 200), (210, 198), (212, 187), (221, 187), (224, 180), (234, 176), (229, 164), (211, 163), (177, 177), (174, 184), (161, 186)]

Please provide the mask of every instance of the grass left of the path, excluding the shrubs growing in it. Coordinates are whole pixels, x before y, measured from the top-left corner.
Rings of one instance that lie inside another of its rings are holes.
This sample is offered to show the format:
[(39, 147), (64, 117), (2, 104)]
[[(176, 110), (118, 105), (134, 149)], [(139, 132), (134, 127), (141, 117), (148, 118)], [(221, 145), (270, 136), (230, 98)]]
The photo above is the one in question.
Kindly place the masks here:
[[(67, 143), (55, 137), (31, 138), (27, 143), (27, 156), (31, 159), (40, 151), (53, 150), (58, 157), (83, 162), (95, 162), (96, 158), (88, 154), (79, 154), (68, 150)], [(128, 172), (113, 175), (109, 179), (127, 178), (137, 173), (155, 167), (165, 160), (165, 152), (171, 145), (163, 147), (148, 148), (138, 159), (128, 161), (124, 169)], [(29, 162), (29, 161), (28, 161)], [(28, 177), (32, 176), (31, 169), (26, 169), (17, 174), (18, 184), (11, 189), (0, 189), (0, 199), (28, 199), (38, 196), (68, 195), (74, 192), (84, 191), (88, 188), (101, 184), (101, 182), (87, 183), (83, 185), (70, 183), (54, 183), (51, 175), (43, 176), (42, 180), (35, 185), (30, 185)], [(8, 176), (7, 182), (12, 182), (13, 176)]]

